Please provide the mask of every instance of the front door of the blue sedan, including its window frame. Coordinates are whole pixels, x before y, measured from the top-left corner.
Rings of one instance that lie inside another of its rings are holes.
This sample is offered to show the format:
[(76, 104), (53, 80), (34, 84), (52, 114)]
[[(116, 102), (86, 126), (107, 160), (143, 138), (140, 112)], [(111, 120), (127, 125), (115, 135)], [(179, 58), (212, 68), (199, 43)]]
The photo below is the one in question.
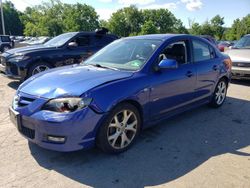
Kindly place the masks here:
[[(178, 47), (174, 47), (176, 45)], [(190, 53), (188, 39), (174, 41), (160, 53), (159, 58), (165, 56), (163, 58), (177, 60), (178, 68), (160, 70), (152, 74), (150, 88), (151, 119), (165, 116), (167, 112), (187, 105), (194, 100), (196, 70), (190, 63)], [(182, 56), (185, 54), (185, 57), (178, 58), (178, 55), (181, 54)]]

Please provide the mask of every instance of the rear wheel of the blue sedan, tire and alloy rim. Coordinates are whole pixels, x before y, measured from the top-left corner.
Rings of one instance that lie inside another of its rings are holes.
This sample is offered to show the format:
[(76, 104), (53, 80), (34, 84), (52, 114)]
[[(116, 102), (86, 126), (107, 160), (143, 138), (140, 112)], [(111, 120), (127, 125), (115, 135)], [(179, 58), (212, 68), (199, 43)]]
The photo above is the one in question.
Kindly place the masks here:
[(228, 82), (222, 78), (217, 83), (209, 106), (218, 108), (223, 105), (227, 96)]

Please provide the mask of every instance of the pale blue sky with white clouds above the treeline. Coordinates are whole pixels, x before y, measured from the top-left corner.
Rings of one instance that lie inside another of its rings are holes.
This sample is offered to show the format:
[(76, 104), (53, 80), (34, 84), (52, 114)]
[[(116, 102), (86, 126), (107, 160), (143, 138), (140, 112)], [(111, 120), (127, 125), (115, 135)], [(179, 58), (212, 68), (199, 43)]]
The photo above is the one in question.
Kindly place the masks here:
[[(20, 11), (42, 2), (40, 0), (10, 1)], [(166, 8), (176, 18), (181, 19), (186, 27), (189, 27), (188, 20), (204, 23), (217, 14), (224, 17), (225, 26), (230, 27), (235, 19), (250, 14), (250, 0), (61, 0), (61, 2), (91, 5), (104, 20), (108, 20), (116, 10), (129, 5), (136, 5), (139, 9)]]

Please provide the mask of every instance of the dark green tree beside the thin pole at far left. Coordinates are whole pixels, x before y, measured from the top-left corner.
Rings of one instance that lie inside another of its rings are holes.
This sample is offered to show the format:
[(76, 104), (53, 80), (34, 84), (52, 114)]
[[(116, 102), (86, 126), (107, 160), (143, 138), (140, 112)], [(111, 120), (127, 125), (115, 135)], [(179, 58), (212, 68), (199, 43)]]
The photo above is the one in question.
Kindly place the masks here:
[[(6, 34), (22, 35), (23, 25), (19, 18), (21, 13), (16, 10), (13, 3), (11, 3), (10, 1), (6, 1), (5, 3), (3, 3), (3, 12)], [(0, 32), (3, 33), (2, 22), (0, 24)]]

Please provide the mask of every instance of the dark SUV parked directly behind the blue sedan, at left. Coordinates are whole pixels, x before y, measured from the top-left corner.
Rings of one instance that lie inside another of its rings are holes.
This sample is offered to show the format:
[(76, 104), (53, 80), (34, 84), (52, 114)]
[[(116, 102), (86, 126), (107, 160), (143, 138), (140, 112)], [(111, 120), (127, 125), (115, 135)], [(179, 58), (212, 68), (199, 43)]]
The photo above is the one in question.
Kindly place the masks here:
[(107, 30), (64, 33), (45, 44), (1, 54), (0, 72), (23, 81), (54, 67), (80, 63), (117, 38)]

